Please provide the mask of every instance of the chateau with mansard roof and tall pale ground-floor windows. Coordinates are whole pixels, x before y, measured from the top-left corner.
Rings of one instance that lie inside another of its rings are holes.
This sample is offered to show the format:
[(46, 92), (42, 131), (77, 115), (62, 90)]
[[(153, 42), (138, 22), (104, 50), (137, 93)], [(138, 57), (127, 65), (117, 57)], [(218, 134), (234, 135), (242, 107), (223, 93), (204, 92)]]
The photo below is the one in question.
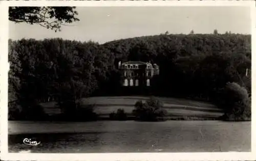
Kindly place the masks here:
[(119, 62), (118, 68), (123, 73), (123, 86), (150, 86), (151, 78), (159, 74), (157, 64), (145, 62)]

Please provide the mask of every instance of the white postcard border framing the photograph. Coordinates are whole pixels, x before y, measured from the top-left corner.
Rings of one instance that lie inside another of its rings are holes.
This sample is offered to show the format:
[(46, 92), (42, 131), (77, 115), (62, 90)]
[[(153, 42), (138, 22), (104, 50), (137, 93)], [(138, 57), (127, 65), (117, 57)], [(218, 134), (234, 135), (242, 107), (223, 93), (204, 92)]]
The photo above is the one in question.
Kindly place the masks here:
[[(0, 118), (1, 118), (1, 159), (2, 160), (255, 160), (255, 119), (251, 121), (251, 152), (211, 152), (211, 153), (8, 153), (8, 6), (250, 6), (252, 26), (252, 82), (255, 65), (256, 12), (254, 1), (4, 1), (1, 12), (1, 55), (0, 55)], [(252, 84), (252, 93), (255, 85)], [(255, 117), (255, 100), (252, 94), (252, 118)]]

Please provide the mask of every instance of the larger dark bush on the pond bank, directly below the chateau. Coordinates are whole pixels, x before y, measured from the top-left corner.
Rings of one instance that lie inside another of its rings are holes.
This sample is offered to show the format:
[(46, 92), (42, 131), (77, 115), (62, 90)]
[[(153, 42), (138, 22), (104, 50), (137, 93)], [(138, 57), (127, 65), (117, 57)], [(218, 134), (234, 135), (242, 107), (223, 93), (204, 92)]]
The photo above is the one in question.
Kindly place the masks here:
[(162, 108), (163, 103), (155, 97), (151, 97), (145, 103), (137, 101), (133, 114), (139, 121), (163, 121), (167, 112)]

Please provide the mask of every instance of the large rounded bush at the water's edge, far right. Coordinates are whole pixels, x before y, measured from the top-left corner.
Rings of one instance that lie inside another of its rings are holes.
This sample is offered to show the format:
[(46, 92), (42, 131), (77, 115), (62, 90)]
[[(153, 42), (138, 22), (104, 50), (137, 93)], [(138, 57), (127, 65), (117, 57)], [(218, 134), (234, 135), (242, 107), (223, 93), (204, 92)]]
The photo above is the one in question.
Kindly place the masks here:
[(244, 87), (237, 83), (227, 83), (221, 96), (220, 106), (225, 112), (222, 119), (230, 121), (251, 119), (251, 100)]

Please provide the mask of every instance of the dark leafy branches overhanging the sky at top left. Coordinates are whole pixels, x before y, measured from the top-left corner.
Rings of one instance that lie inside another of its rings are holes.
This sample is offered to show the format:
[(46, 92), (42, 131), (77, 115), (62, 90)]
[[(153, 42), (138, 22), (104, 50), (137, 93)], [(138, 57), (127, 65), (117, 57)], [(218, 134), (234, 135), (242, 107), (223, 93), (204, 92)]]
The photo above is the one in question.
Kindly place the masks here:
[(61, 25), (79, 21), (75, 7), (10, 7), (9, 20), (16, 23), (39, 24), (60, 31)]

